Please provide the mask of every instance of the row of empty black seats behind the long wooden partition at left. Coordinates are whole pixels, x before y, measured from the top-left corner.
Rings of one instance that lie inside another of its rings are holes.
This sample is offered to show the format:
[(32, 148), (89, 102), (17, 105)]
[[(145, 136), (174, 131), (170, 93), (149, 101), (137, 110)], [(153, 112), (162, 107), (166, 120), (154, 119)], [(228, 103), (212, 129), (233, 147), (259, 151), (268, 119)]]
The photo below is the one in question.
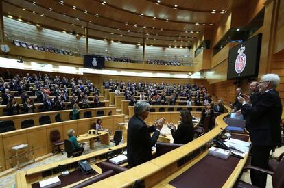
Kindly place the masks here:
[[(73, 115), (73, 113), (72, 113), (72, 111), (70, 111), (70, 113), (69, 113), (69, 119), (70, 120), (72, 120), (72, 115)], [(103, 110), (97, 111), (97, 117), (104, 116), (104, 115), (105, 114), (104, 114)], [(111, 111), (108, 115), (109, 116), (111, 115)], [(84, 112), (84, 118), (92, 118), (91, 111), (85, 111)], [(62, 122), (60, 113), (56, 114), (55, 120), (56, 120), (56, 122)], [(39, 124), (40, 125), (51, 124), (50, 116), (40, 116)], [(29, 128), (29, 127), (32, 127), (32, 126), (34, 126), (34, 120), (32, 120), (32, 119), (23, 120), (21, 122), (21, 128), (22, 129)], [(8, 131), (14, 131), (14, 130), (16, 130), (16, 129), (15, 129), (15, 126), (14, 126), (14, 122), (12, 120), (0, 121), (0, 133), (5, 133), (5, 132), (8, 132)]]

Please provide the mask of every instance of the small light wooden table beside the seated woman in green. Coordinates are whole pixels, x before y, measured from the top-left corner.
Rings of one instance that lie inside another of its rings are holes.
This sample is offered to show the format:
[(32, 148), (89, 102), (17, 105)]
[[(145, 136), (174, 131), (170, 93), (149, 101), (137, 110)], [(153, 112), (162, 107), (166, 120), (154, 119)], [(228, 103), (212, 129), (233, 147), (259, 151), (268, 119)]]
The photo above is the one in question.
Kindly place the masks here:
[(94, 148), (94, 139), (95, 137), (99, 137), (99, 142), (101, 142), (102, 144), (106, 144), (106, 145), (110, 145), (110, 136), (109, 133), (106, 131), (98, 131), (99, 135), (93, 135), (93, 134), (83, 134), (83, 135), (79, 135), (79, 137), (77, 137), (77, 141), (78, 142), (83, 142), (85, 140), (89, 140), (90, 142), (90, 148), (93, 149)]

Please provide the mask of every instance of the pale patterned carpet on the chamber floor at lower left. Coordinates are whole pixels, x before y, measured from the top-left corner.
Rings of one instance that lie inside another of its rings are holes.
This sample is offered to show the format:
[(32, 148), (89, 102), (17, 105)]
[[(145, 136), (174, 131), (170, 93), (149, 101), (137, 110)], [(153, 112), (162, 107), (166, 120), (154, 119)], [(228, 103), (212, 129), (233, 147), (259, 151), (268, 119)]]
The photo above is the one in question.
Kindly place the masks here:
[[(105, 144), (101, 144), (99, 142), (95, 142), (94, 145), (95, 145), (95, 149), (91, 150), (88, 142), (86, 142), (86, 144), (84, 146), (85, 149), (84, 149), (83, 155), (86, 155), (90, 152), (95, 152), (97, 150), (102, 150), (104, 148), (109, 148), (109, 147), (115, 146), (115, 144), (112, 143), (112, 142), (110, 142), (110, 146), (105, 145)], [(30, 169), (30, 168), (33, 168), (33, 167), (38, 167), (40, 165), (46, 165), (46, 164), (49, 164), (49, 163), (54, 163), (54, 162), (62, 161), (62, 160), (65, 160), (65, 159), (68, 159), (66, 152), (64, 152), (63, 155), (57, 154), (57, 155), (52, 155), (51, 157), (47, 157), (43, 161), (38, 161), (37, 163), (32, 163), (30, 165), (27, 165), (26, 167), (23, 167), (21, 170), (27, 170), (27, 169)], [(0, 178), (0, 187), (3, 187), (3, 188), (8, 188), (8, 187), (14, 188), (14, 187), (16, 187), (15, 174), (16, 174), (16, 172), (9, 174), (7, 176), (1, 177)]]

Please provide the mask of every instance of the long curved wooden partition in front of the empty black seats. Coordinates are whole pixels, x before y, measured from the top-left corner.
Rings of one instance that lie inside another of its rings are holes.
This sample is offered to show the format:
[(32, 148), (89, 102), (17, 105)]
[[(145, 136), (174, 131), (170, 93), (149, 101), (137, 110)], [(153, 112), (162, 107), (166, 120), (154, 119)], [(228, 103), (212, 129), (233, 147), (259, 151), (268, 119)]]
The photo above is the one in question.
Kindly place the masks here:
[[(74, 129), (78, 135), (86, 134), (88, 133), (88, 130), (91, 129), (91, 125), (97, 122), (97, 119), (101, 119), (103, 128), (110, 130), (112, 133), (115, 133), (115, 131), (118, 130), (118, 123), (124, 122), (123, 115), (100, 116), (95, 118), (84, 118), (80, 120), (69, 120), (45, 124), (0, 133), (0, 165), (3, 167), (3, 170), (7, 170), (10, 168), (10, 162), (15, 163), (14, 159), (13, 161), (10, 161), (10, 149), (12, 146), (29, 144), (29, 150), (32, 150), (32, 146), (34, 148), (34, 157), (41, 157), (50, 153), (54, 148), (50, 141), (51, 131), (58, 129), (61, 139), (68, 139), (67, 131), (69, 129)], [(102, 142), (108, 144), (109, 142), (106, 140), (108, 135), (104, 136), (101, 140)], [(30, 155), (29, 158), (32, 159), (32, 155)]]

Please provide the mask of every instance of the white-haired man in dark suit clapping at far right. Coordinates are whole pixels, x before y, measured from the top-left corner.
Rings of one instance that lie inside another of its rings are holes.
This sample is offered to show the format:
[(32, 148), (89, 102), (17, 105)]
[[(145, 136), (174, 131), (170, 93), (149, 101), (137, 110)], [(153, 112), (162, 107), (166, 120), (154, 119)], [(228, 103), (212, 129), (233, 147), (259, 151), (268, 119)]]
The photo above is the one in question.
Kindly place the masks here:
[[(267, 74), (259, 81), (259, 92), (261, 96), (259, 102), (250, 105), (247, 96), (239, 96), (239, 103), (242, 104), (241, 111), (250, 117), (250, 140), (252, 148), (250, 150), (252, 159), (250, 164), (263, 169), (268, 169), (270, 150), (281, 146), (280, 121), (282, 104), (276, 87), (280, 78), (275, 74)], [(266, 174), (250, 171), (252, 185), (265, 187)]]

